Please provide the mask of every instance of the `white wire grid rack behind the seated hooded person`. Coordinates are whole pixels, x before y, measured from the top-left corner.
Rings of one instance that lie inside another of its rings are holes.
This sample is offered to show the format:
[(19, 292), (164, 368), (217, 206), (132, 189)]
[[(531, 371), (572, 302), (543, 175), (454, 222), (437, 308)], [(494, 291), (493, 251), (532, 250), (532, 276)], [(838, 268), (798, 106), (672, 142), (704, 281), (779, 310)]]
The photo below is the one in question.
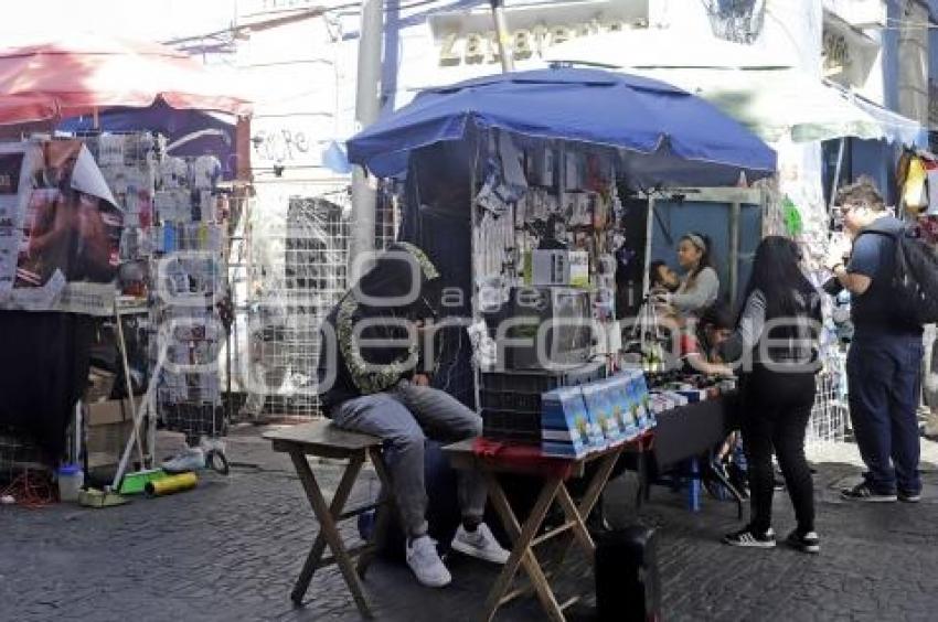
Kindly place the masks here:
[[(242, 416), (264, 422), (321, 417), (316, 367), (319, 328), (349, 288), (354, 223), (347, 185), (309, 194), (271, 192), (256, 202), (245, 229), (247, 356)], [(397, 206), (379, 193), (375, 247), (396, 236)]]

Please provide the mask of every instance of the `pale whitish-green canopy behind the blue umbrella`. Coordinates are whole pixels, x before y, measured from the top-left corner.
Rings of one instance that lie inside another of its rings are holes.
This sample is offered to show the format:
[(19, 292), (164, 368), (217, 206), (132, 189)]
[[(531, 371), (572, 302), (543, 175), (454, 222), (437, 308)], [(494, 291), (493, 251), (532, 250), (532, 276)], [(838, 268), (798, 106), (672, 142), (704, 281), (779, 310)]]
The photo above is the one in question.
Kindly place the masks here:
[(915, 121), (843, 87), (793, 68), (758, 45), (692, 42), (693, 33), (636, 30), (572, 40), (547, 51), (553, 63), (629, 72), (673, 84), (711, 101), (769, 142), (856, 137), (914, 143)]

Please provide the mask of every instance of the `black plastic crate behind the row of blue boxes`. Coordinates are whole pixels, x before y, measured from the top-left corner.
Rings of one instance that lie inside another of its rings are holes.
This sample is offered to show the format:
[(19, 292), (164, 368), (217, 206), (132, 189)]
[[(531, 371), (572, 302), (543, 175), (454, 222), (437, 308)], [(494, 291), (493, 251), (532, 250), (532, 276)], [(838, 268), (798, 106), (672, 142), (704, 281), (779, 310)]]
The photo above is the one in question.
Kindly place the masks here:
[(482, 374), (479, 390), (482, 436), (513, 442), (541, 442), (541, 395), (606, 377), (605, 363), (563, 372), (518, 371)]

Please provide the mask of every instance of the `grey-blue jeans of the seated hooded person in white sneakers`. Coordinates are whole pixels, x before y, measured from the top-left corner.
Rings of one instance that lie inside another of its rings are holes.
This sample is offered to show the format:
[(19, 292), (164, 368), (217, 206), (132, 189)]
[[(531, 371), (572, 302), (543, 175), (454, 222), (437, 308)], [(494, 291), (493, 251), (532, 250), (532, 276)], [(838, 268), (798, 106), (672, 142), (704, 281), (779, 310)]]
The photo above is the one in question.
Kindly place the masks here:
[[(456, 442), (482, 433), (482, 418), (462, 403), (445, 392), (409, 380), (402, 380), (387, 393), (345, 400), (332, 409), (331, 416), (340, 428), (384, 440), (384, 459), (391, 472), (395, 503), (409, 537), (427, 533), (426, 439)], [(486, 483), (479, 473), (459, 471), (463, 518), (481, 522), (486, 495)]]

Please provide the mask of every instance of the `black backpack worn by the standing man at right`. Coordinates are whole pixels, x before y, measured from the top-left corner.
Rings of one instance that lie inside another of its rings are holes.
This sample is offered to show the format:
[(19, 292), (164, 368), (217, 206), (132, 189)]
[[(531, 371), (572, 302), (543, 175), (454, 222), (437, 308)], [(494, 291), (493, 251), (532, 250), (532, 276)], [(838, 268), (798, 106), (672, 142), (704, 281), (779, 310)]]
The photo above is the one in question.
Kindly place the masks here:
[(866, 229), (892, 238), (895, 246), (893, 290), (897, 315), (917, 325), (938, 322), (938, 255), (907, 230)]

